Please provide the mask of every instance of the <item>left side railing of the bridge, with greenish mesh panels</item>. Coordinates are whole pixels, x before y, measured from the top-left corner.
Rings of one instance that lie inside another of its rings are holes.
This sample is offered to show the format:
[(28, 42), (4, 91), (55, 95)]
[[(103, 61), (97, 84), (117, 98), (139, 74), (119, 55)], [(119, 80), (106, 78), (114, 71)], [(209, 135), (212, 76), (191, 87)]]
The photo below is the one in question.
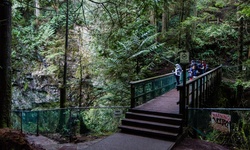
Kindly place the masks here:
[(141, 105), (175, 88), (173, 73), (130, 82), (131, 108)]

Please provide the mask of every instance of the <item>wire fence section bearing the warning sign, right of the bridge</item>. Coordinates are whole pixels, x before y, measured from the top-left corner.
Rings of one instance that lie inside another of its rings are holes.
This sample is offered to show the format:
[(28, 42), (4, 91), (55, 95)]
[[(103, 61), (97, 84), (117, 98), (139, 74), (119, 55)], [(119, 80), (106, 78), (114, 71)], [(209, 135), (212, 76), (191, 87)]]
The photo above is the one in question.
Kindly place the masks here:
[(189, 108), (193, 136), (231, 148), (250, 148), (250, 108)]

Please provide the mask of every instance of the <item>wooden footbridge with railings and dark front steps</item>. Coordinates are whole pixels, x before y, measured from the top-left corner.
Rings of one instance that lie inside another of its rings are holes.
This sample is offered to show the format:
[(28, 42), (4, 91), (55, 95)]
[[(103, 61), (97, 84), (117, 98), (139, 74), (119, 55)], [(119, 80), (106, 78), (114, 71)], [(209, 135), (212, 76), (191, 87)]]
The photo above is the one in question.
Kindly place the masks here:
[[(202, 108), (213, 100), (221, 81), (222, 66), (176, 87), (172, 73), (131, 82), (131, 109), (121, 132), (178, 142), (185, 136), (188, 109)], [(186, 74), (182, 81), (185, 81)]]

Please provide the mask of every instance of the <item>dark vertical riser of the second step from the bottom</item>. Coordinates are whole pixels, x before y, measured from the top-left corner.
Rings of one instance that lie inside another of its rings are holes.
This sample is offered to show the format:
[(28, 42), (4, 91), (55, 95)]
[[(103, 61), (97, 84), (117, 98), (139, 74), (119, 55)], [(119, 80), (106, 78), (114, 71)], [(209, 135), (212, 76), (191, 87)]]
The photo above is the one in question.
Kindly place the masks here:
[(160, 130), (160, 131), (166, 131), (166, 132), (172, 132), (172, 133), (180, 133), (180, 127), (166, 127), (166, 126), (159, 126), (154, 124), (145, 124), (140, 122), (131, 122), (131, 121), (125, 121), (122, 120), (123, 125), (128, 126), (134, 126), (134, 127), (141, 127), (141, 128), (147, 128), (147, 129), (154, 129), (154, 130)]

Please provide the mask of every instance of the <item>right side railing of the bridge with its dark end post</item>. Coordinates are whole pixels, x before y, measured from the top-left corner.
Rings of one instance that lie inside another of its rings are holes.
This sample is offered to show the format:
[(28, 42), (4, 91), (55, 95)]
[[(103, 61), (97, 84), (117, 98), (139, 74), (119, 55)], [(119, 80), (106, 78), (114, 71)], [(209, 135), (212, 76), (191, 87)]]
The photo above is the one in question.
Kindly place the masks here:
[(178, 90), (180, 90), (179, 113), (183, 115), (184, 124), (188, 121), (188, 108), (200, 108), (206, 103), (212, 102), (212, 94), (217, 90), (221, 76), (222, 65), (187, 81), (185, 88), (183, 84), (178, 85)]

